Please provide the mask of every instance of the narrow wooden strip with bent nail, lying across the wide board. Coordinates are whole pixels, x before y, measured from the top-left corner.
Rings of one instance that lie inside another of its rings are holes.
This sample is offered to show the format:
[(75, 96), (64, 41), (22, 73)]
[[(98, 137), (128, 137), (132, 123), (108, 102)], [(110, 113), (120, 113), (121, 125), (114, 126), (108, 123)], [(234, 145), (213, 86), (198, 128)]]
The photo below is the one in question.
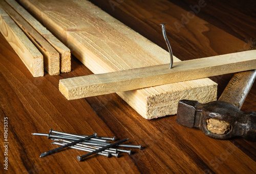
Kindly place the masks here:
[(256, 67), (256, 50), (175, 62), (172, 69), (168, 66), (163, 64), (63, 79), (59, 81), (59, 90), (68, 100), (74, 100), (246, 71)]

